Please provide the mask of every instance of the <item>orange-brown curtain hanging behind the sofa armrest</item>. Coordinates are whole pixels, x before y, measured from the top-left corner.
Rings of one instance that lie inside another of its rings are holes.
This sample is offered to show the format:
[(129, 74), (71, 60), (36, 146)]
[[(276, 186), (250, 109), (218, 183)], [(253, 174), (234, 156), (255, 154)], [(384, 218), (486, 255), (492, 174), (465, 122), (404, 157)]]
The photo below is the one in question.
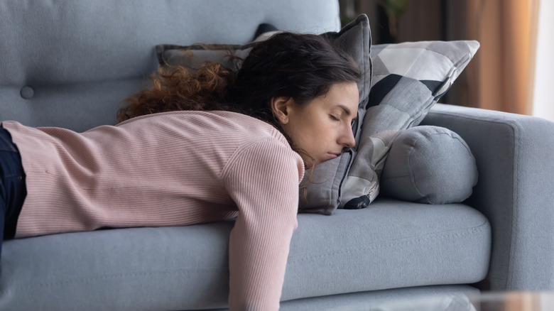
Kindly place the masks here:
[(539, 0), (467, 0), (467, 35), (481, 48), (467, 68), (476, 107), (531, 114)]

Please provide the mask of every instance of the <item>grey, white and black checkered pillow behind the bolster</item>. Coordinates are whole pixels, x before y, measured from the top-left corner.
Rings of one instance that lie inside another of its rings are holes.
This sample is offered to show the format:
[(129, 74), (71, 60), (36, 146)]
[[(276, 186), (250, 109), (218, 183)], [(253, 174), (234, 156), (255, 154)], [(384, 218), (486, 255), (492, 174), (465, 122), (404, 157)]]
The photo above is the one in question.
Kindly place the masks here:
[(373, 80), (358, 155), (342, 184), (340, 207), (364, 208), (379, 194), (391, 143), (416, 126), (473, 58), (479, 43), (420, 41), (373, 45)]

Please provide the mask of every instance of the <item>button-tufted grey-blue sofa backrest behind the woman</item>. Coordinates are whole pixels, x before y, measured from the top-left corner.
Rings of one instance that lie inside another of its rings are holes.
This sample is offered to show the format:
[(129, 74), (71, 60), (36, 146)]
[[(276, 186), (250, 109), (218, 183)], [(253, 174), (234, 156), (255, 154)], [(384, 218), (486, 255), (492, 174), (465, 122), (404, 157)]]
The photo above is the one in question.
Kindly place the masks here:
[(114, 124), (121, 99), (156, 70), (156, 45), (247, 43), (260, 23), (338, 31), (338, 1), (0, 1), (0, 119)]

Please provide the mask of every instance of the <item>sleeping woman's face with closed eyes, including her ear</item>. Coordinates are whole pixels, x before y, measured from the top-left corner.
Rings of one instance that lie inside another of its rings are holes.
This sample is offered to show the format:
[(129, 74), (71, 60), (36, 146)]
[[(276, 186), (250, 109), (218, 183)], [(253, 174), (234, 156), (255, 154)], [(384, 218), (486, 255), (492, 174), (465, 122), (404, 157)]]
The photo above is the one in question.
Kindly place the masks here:
[(289, 99), (283, 130), (295, 147), (308, 153), (304, 163), (318, 164), (337, 158), (343, 148), (356, 144), (352, 121), (358, 113), (358, 87), (356, 82), (333, 84), (327, 94), (315, 97), (308, 104), (296, 104)]

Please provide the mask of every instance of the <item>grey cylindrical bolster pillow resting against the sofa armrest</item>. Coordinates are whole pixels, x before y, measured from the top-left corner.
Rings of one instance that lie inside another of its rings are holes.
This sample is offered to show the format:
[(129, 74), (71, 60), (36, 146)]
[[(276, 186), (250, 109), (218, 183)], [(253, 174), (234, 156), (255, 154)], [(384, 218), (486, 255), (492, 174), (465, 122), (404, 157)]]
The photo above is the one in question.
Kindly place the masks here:
[(462, 202), (477, 185), (467, 143), (438, 126), (415, 126), (393, 141), (381, 175), (381, 194), (428, 204)]

